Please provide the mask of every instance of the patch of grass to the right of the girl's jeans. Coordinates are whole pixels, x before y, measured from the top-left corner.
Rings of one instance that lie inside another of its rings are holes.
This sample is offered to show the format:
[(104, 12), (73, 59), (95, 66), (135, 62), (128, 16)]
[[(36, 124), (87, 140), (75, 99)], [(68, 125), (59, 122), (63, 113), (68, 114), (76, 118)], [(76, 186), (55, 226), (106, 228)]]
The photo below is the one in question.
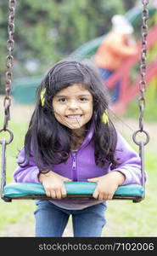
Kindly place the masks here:
[(145, 158), (148, 172), (146, 197), (140, 203), (109, 201), (104, 236), (157, 236), (156, 222), (156, 156), (148, 153)]

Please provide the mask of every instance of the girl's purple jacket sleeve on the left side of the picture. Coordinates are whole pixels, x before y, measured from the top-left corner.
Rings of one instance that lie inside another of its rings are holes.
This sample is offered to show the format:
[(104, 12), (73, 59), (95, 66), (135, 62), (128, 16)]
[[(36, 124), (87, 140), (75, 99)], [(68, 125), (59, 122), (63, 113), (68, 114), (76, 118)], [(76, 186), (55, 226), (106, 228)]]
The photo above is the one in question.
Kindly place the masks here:
[(20, 166), (25, 160), (25, 148), (20, 150), (18, 157), (18, 167), (14, 171), (14, 181), (17, 183), (40, 183), (38, 180), (39, 169), (36, 166), (34, 157), (30, 157), (30, 161), (26, 166)]

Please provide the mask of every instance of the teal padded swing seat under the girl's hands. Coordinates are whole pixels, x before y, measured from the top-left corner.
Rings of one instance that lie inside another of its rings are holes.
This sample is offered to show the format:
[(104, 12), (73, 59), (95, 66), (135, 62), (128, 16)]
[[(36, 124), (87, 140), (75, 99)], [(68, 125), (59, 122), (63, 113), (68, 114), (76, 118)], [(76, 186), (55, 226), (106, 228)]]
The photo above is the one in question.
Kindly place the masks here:
[[(93, 191), (97, 183), (69, 182), (64, 183), (67, 192), (66, 199), (88, 200), (93, 198)], [(143, 186), (137, 184), (123, 185), (115, 191), (113, 199), (142, 201), (144, 197)], [(3, 188), (4, 201), (12, 199), (50, 199), (47, 197), (42, 184), (37, 183), (8, 183)]]

